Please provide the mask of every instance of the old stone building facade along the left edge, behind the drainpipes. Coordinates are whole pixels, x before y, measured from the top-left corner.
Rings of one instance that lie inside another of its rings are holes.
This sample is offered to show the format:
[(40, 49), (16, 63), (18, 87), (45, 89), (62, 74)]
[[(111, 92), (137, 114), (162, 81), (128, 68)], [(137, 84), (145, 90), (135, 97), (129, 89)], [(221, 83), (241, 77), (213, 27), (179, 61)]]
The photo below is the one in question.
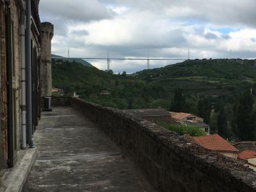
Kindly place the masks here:
[[(29, 47), (31, 58), (27, 57), (26, 61), (24, 60), (25, 44), (22, 44), (22, 40), (24, 40), (25, 31), (22, 18), (25, 19), (25, 2), (24, 0), (0, 0), (0, 178), (6, 168), (15, 165), (17, 153), (21, 149), (22, 109), (28, 108), (26, 105), (22, 106), (21, 101), (22, 91), (24, 93), (26, 90), (26, 87), (21, 86), (24, 82), (21, 74), (25, 72), (25, 68), (21, 68), (22, 61), (28, 63), (28, 60), (31, 60), (31, 116), (32, 132), (34, 132), (40, 118), (41, 86), (44, 86), (40, 81), (41, 55), (45, 56), (45, 50), (47, 49), (46, 52), (49, 53), (48, 49), (50, 49), (51, 57), (51, 41), (45, 43), (45, 39), (42, 40), (38, 14), (39, 1), (31, 0), (29, 32), (31, 33), (31, 47)], [(28, 137), (26, 143), (28, 145)]]

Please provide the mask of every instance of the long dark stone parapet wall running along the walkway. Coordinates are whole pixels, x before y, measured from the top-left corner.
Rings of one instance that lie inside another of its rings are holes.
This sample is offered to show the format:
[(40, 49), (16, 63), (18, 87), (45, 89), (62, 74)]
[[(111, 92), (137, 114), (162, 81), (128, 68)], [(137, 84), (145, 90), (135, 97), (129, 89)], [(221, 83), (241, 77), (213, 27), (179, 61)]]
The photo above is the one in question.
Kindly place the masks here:
[(179, 135), (146, 120), (79, 99), (70, 104), (127, 154), (157, 191), (256, 191), (256, 172), (236, 159), (188, 144)]

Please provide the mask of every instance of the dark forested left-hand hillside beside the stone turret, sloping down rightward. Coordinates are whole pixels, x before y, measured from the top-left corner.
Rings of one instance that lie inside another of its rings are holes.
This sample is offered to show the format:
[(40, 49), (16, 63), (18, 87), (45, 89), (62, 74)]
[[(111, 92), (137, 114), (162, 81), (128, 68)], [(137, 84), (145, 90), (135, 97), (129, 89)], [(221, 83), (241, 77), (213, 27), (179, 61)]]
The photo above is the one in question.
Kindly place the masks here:
[[(120, 109), (150, 108), (154, 100), (164, 97), (163, 87), (157, 84), (147, 84), (125, 72), (114, 75), (111, 71), (69, 61), (61, 64), (52, 61), (52, 86), (62, 88), (67, 94), (77, 92), (83, 99)], [(108, 90), (111, 95), (101, 95), (102, 90)], [(170, 107), (170, 102), (166, 107)]]

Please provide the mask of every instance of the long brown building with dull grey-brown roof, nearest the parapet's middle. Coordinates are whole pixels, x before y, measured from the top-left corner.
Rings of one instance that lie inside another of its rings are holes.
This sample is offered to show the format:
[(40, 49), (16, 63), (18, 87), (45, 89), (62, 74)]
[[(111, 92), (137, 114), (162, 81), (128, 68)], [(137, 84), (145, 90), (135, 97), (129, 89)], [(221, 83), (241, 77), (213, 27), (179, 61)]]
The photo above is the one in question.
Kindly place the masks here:
[(153, 122), (154, 124), (172, 123), (172, 117), (170, 116), (170, 113), (165, 109), (127, 109), (120, 111), (129, 113), (139, 118), (143, 118), (149, 122)]

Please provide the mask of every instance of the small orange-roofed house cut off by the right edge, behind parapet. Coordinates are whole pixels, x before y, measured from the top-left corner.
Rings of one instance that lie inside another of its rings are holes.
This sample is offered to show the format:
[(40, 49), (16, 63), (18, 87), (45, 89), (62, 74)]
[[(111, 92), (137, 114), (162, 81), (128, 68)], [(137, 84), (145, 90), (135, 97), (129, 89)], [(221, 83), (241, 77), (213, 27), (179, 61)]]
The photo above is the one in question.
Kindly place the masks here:
[(256, 171), (256, 151), (243, 150), (237, 155), (237, 159), (242, 159), (249, 168)]

